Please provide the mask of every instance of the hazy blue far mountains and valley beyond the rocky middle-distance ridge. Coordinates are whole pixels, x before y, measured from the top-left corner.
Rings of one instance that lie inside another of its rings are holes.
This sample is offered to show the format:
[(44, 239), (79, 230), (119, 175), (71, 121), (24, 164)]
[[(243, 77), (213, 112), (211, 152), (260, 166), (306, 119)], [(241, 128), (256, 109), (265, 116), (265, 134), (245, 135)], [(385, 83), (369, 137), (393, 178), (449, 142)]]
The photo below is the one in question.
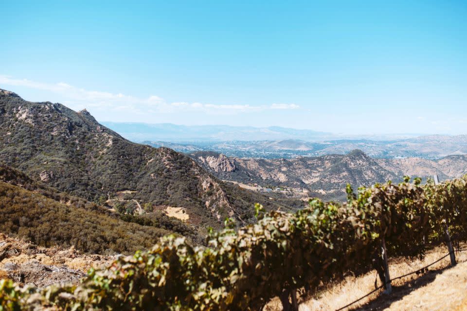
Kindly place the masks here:
[(234, 157), (292, 158), (344, 155), (360, 149), (373, 157), (427, 159), (467, 154), (467, 135), (350, 136), (278, 126), (186, 126), (121, 122), (104, 124), (132, 141), (157, 148), (168, 147), (183, 153), (215, 151)]

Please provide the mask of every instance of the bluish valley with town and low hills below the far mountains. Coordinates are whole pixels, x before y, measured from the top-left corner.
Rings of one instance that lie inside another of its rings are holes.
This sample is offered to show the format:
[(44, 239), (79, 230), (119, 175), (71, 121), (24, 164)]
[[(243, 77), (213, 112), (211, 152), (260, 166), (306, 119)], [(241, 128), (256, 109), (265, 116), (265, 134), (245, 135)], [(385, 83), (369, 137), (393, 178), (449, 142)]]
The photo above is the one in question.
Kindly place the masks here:
[[(115, 124), (113, 124), (115, 126)], [(119, 128), (115, 126), (115, 128)], [(407, 135), (408, 136), (408, 135)], [(129, 136), (131, 137), (131, 136)], [(467, 154), (467, 136), (430, 135), (419, 137), (370, 137), (367, 139), (334, 136), (326, 140), (310, 136), (306, 139), (289, 137), (280, 140), (181, 140), (183, 133), (172, 142), (147, 140), (144, 135), (135, 141), (153, 147), (168, 147), (183, 153), (213, 151), (227, 156), (245, 158), (294, 158), (299, 156), (345, 155), (359, 149), (365, 154), (387, 159), (421, 157), (439, 159), (449, 155)], [(250, 135), (239, 133), (238, 138), (251, 139)], [(322, 138), (321, 138), (322, 139)], [(384, 139), (384, 140), (381, 140)], [(175, 141), (175, 142), (174, 142)]]

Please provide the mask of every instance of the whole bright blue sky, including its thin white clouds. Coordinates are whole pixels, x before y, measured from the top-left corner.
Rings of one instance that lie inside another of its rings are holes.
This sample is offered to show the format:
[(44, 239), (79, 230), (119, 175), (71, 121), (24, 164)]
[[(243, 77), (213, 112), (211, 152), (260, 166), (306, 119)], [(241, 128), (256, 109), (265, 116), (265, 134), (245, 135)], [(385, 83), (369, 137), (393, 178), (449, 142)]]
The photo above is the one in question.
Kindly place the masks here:
[(0, 8), (0, 87), (98, 121), (467, 134), (465, 0)]

